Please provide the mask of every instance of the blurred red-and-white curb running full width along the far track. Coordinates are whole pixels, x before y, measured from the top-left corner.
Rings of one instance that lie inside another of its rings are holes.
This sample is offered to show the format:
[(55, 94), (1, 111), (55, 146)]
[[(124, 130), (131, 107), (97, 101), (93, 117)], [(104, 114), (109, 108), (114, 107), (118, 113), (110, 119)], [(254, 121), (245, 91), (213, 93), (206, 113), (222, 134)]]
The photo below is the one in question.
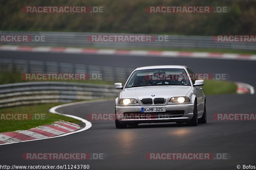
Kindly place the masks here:
[(180, 52), (180, 51), (149, 51), (149, 50), (114, 50), (114, 49), (89, 49), (73, 47), (49, 47), (49, 46), (12, 46), (2, 45), (0, 51), (26, 51), (26, 52), (50, 52), (72, 54), (103, 54), (103, 55), (131, 55), (149, 57), (187, 57), (210, 58), (226, 60), (256, 60), (256, 55), (235, 53), (207, 53), (207, 52)]

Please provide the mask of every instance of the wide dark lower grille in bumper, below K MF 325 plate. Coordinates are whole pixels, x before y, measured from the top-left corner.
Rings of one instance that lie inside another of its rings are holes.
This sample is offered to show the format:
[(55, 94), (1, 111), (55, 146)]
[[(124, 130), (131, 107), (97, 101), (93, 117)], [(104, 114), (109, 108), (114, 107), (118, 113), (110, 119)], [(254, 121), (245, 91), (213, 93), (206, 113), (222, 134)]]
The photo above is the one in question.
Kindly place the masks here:
[(169, 110), (165, 112), (124, 112), (125, 119), (161, 119), (183, 117), (184, 110)]

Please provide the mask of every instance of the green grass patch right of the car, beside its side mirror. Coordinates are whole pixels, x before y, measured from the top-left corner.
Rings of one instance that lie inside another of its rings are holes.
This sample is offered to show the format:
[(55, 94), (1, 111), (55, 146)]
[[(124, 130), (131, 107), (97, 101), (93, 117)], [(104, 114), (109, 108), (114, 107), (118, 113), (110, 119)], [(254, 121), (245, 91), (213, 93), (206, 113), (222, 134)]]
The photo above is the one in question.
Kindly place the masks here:
[(207, 80), (202, 87), (205, 95), (234, 94), (237, 89), (235, 83), (224, 80)]

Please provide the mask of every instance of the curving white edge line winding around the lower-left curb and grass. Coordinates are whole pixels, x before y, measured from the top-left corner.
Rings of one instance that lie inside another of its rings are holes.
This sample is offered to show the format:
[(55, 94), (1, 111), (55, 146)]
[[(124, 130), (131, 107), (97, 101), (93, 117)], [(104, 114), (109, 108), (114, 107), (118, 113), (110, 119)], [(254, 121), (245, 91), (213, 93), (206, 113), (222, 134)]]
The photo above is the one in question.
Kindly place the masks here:
[[(67, 135), (71, 135), (73, 133), (78, 133), (78, 132), (81, 132), (81, 131), (85, 131), (89, 128), (92, 127), (92, 123), (81, 118), (81, 117), (77, 117), (77, 116), (73, 116), (73, 115), (65, 115), (65, 114), (62, 114), (62, 113), (59, 113), (56, 111), (56, 109), (59, 109), (61, 107), (66, 107), (66, 106), (72, 106), (72, 105), (76, 105), (76, 104), (86, 104), (86, 103), (97, 103), (97, 102), (103, 102), (103, 101), (108, 101), (108, 100), (113, 100), (113, 99), (98, 99), (98, 100), (91, 100), (91, 101), (83, 101), (83, 102), (75, 102), (75, 103), (68, 103), (68, 104), (61, 104), (61, 105), (58, 105), (58, 106), (54, 106), (52, 107), (49, 111), (51, 113), (55, 113), (55, 114), (58, 114), (58, 115), (63, 115), (63, 116), (66, 116), (66, 117), (72, 117), (74, 119), (77, 119), (77, 120), (80, 120), (82, 121), (83, 123), (86, 124), (86, 126), (84, 128), (81, 128), (77, 131), (73, 131), (73, 132), (69, 132), (69, 133), (65, 133), (65, 134), (62, 134), (62, 135), (59, 135), (59, 136), (53, 136), (53, 137), (49, 137), (49, 138), (40, 138), (40, 139), (32, 139), (32, 140), (24, 140), (24, 141), (18, 141), (18, 142), (10, 142), (10, 143), (5, 143), (5, 144), (0, 144), (0, 145), (9, 145), (9, 144), (14, 144), (14, 143), (20, 143), (20, 142), (30, 142), (30, 141), (35, 141), (35, 140), (43, 140), (43, 139), (51, 139), (51, 138), (59, 138), (59, 137), (63, 137), (63, 136), (67, 136)], [(40, 126), (39, 126), (40, 127)], [(41, 129), (43, 130), (43, 129)]]

